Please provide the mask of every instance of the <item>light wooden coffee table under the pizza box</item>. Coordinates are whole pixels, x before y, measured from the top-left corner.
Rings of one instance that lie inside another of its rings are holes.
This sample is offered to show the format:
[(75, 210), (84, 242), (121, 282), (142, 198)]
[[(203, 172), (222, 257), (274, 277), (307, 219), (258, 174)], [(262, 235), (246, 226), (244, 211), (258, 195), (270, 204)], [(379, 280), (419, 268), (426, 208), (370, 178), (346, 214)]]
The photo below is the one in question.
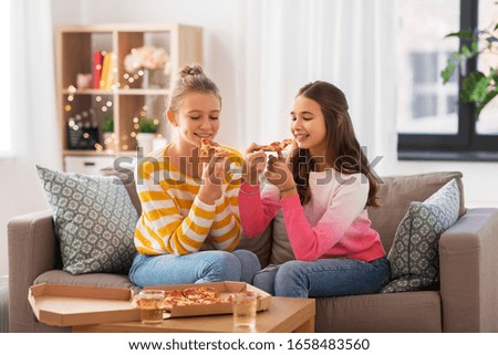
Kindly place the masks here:
[(267, 311), (258, 312), (256, 328), (234, 326), (232, 315), (204, 315), (164, 320), (159, 324), (142, 322), (104, 323), (73, 326), (83, 333), (312, 333), (315, 301), (313, 299), (272, 297)]

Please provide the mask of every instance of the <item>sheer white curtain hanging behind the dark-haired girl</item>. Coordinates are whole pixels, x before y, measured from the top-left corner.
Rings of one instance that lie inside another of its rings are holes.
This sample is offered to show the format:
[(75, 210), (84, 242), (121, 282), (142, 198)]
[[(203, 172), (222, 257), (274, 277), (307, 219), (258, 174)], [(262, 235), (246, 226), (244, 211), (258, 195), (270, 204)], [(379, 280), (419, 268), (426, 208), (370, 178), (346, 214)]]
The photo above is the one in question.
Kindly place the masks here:
[(243, 80), (238, 83), (247, 146), (290, 134), (298, 90), (323, 80), (345, 93), (362, 146), (375, 167), (396, 160), (394, 0), (247, 0), (242, 36)]

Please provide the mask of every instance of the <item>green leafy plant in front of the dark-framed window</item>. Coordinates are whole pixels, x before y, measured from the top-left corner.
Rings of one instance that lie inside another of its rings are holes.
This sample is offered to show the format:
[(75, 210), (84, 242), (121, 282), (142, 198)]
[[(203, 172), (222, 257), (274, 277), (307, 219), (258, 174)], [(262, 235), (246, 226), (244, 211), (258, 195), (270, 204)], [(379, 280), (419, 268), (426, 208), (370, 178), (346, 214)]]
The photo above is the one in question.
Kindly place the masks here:
[(498, 69), (489, 67), (487, 72), (479, 70), (466, 72), (467, 61), (478, 58), (480, 54), (498, 54), (498, 23), (495, 22), (485, 30), (464, 30), (449, 33), (446, 38), (458, 38), (465, 41), (460, 50), (453, 54), (446, 67), (440, 72), (443, 83), (446, 84), (457, 67), (463, 75), (460, 100), (464, 103), (475, 104), (476, 119), (486, 105), (498, 94)]

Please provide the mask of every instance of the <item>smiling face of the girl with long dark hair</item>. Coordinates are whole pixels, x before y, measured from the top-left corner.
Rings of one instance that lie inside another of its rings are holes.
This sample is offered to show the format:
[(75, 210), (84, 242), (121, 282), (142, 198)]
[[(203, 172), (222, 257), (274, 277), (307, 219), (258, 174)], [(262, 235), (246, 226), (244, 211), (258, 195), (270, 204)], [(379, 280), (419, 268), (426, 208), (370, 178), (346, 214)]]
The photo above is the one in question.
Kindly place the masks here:
[(309, 149), (312, 157), (326, 155), (325, 117), (318, 102), (303, 95), (292, 105), (291, 132), (301, 149)]

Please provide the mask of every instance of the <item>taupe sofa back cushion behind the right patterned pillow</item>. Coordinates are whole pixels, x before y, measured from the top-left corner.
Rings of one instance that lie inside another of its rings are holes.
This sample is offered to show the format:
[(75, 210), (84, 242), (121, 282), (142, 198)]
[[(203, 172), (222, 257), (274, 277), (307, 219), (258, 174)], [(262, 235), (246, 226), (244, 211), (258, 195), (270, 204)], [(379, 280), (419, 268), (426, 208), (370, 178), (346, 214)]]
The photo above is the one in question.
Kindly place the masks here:
[(383, 184), (378, 186), (377, 194), (381, 207), (369, 207), (369, 217), (372, 220), (372, 228), (381, 234), (385, 250), (391, 249), (397, 226), (406, 215), (409, 203), (424, 201), (452, 179), (456, 179), (460, 194), (458, 217), (465, 213), (461, 173), (443, 171), (391, 176), (382, 179)]

